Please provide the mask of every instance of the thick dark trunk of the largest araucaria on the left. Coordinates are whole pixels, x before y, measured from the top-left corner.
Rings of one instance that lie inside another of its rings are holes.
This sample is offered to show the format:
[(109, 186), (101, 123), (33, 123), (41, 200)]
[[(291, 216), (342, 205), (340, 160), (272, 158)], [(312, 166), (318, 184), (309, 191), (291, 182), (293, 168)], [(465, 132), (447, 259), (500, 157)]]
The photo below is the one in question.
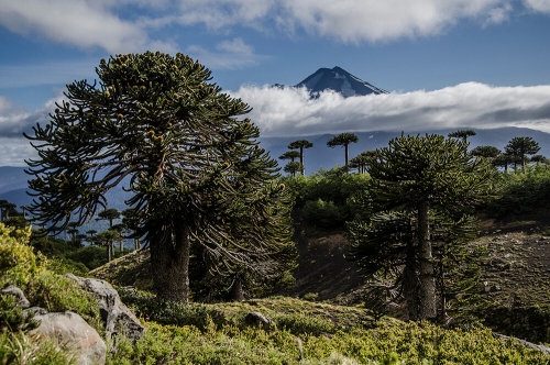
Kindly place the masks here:
[[(175, 234), (151, 242), (151, 268), (156, 295), (161, 299), (189, 300), (189, 229), (179, 222)], [(158, 234), (161, 236), (162, 234)]]

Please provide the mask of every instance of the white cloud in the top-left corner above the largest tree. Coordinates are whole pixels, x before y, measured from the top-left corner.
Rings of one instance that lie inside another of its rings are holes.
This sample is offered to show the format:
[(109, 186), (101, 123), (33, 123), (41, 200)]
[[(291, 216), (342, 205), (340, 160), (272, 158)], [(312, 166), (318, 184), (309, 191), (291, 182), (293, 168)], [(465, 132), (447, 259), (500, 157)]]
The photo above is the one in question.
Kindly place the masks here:
[[(91, 0), (2, 1), (0, 24), (14, 33), (110, 53), (145, 51), (151, 42), (144, 30)], [(173, 51), (169, 44), (155, 45)]]

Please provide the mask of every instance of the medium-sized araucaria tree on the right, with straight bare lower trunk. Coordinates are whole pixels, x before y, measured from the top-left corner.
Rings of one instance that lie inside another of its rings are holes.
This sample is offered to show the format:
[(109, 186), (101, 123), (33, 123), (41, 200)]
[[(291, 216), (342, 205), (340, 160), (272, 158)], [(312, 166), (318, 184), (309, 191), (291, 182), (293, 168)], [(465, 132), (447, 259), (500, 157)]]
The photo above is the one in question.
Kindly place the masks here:
[(402, 135), (367, 158), (371, 179), (349, 226), (348, 257), (367, 276), (393, 273), (409, 317), (436, 320), (441, 253), (463, 237), (444, 228), (471, 235), (464, 214), (492, 191), (496, 172), (462, 139), (441, 135)]

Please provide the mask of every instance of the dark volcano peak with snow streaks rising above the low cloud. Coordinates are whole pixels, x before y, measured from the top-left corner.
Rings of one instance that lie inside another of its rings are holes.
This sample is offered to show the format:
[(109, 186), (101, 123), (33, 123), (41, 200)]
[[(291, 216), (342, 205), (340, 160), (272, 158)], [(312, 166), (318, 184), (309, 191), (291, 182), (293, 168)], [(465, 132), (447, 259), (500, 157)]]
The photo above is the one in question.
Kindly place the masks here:
[(330, 89), (340, 92), (344, 98), (370, 93), (387, 93), (386, 90), (363, 81), (338, 66), (332, 69), (319, 68), (315, 74), (296, 85), (297, 88), (304, 86), (312, 95)]

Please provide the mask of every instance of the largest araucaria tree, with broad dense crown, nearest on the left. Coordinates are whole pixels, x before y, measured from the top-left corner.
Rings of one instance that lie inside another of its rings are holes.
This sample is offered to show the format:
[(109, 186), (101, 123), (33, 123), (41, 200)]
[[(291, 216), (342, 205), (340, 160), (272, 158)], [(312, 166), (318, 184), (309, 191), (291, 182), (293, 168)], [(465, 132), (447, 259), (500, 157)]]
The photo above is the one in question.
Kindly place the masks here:
[(191, 244), (212, 269), (280, 275), (293, 261), (288, 192), (273, 182), (278, 167), (258, 129), (240, 118), (250, 107), (183, 54), (118, 55), (96, 71), (98, 82), (68, 85), (28, 136), (38, 152), (28, 162), (33, 217), (50, 230), (70, 217), (81, 224), (125, 184), (160, 298), (187, 300)]

